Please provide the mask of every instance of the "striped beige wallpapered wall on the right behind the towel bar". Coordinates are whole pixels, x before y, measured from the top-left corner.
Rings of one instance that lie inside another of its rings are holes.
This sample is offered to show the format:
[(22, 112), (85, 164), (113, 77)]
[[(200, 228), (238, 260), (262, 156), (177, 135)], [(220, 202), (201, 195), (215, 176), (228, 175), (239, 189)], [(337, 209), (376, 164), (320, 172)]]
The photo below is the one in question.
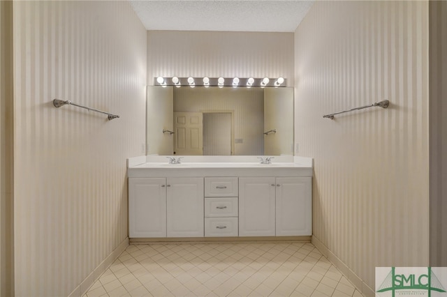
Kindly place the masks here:
[[(427, 38), (427, 1), (316, 1), (295, 31), (313, 242), (367, 295), (376, 266), (429, 263)], [(388, 109), (322, 117), (385, 98)]]

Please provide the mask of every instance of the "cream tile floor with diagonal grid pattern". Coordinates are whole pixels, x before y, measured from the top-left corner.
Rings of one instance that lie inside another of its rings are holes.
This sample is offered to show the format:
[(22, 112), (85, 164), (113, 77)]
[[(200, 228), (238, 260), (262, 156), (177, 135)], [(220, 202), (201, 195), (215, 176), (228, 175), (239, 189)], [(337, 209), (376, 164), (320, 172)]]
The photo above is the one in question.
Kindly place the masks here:
[(311, 243), (129, 245), (94, 296), (359, 296)]

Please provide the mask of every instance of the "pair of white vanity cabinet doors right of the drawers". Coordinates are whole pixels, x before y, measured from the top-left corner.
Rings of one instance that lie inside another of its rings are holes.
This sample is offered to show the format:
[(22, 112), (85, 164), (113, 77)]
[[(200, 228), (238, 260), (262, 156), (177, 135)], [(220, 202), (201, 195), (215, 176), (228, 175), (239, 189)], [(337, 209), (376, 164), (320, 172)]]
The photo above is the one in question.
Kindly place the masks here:
[(312, 177), (239, 178), (239, 236), (312, 235)]

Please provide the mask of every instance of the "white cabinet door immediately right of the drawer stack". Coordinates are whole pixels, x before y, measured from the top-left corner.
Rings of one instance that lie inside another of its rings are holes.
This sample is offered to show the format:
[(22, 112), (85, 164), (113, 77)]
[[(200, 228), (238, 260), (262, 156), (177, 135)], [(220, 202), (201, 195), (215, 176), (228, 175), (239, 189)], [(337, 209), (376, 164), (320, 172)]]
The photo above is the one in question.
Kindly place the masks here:
[(274, 236), (273, 177), (239, 178), (239, 236)]

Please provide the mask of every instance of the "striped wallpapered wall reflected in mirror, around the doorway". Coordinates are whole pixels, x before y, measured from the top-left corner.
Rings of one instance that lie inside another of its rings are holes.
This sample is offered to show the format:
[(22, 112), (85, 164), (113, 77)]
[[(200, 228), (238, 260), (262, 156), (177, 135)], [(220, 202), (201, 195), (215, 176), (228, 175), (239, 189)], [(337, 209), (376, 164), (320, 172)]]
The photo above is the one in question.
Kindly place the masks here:
[(174, 88), (174, 112), (234, 112), (234, 155), (264, 154), (264, 91), (260, 88)]

